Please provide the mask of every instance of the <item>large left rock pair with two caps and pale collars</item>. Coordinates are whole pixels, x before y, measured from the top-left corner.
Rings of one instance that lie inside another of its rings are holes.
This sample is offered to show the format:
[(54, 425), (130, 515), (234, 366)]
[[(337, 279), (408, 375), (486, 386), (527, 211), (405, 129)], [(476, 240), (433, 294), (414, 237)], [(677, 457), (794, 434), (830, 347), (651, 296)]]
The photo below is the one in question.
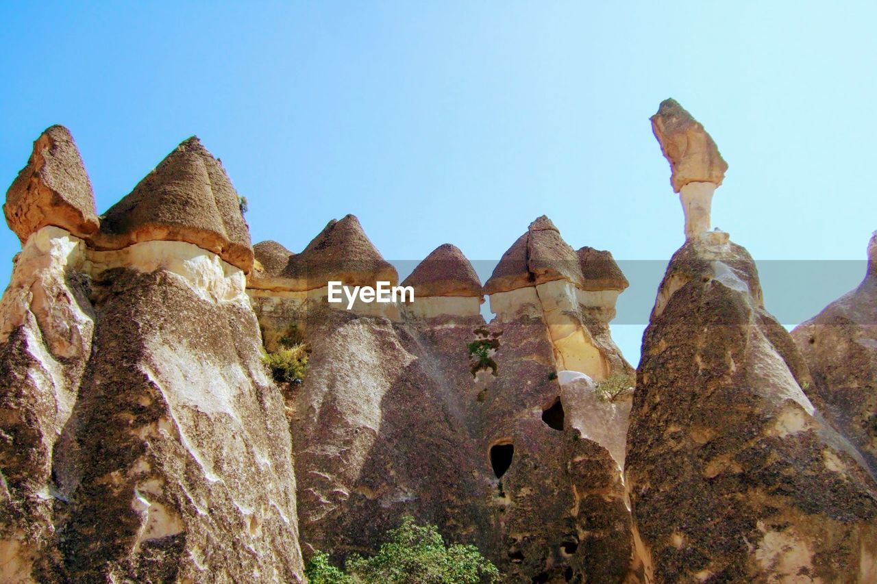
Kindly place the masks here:
[(0, 579), (300, 581), (231, 183), (187, 140), (101, 231), (93, 208), (50, 128), (5, 205), (24, 248), (0, 300)]

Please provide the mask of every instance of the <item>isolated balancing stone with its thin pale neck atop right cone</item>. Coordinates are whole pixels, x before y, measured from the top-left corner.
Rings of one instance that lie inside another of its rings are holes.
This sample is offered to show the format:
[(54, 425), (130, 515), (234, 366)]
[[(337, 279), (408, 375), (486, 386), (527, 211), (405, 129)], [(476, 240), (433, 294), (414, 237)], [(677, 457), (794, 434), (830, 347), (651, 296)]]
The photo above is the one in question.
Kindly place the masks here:
[(674, 99), (660, 103), (652, 132), (670, 163), (670, 183), (680, 194), (687, 239), (709, 230), (713, 191), (722, 184), (728, 163), (703, 126)]

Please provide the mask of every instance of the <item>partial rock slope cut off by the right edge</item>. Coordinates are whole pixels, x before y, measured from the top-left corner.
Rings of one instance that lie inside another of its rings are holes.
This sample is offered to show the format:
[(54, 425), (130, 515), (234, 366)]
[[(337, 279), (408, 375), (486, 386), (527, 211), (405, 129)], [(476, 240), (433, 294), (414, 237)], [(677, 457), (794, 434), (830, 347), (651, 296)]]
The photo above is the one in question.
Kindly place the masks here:
[(795, 327), (792, 338), (813, 375), (808, 393), (877, 476), (877, 234), (859, 287)]

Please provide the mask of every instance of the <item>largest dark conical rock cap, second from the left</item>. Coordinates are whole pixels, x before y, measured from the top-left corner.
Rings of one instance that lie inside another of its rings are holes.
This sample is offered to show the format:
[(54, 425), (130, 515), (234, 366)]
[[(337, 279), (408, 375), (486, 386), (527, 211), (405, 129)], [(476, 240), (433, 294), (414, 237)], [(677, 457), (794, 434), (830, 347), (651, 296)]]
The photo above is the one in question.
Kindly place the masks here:
[(222, 165), (194, 136), (103, 215), (95, 243), (118, 249), (153, 240), (186, 241), (246, 272), (253, 267), (238, 193)]

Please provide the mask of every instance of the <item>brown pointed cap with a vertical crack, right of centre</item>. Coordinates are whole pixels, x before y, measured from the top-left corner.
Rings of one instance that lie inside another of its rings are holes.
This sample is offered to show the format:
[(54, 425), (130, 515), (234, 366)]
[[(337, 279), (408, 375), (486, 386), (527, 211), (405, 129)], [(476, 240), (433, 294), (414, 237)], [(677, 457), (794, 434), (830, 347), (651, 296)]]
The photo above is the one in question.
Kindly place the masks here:
[(555, 280), (567, 280), (580, 288), (584, 284), (578, 255), (543, 215), (503, 253), (484, 285), (484, 293), (509, 292)]

